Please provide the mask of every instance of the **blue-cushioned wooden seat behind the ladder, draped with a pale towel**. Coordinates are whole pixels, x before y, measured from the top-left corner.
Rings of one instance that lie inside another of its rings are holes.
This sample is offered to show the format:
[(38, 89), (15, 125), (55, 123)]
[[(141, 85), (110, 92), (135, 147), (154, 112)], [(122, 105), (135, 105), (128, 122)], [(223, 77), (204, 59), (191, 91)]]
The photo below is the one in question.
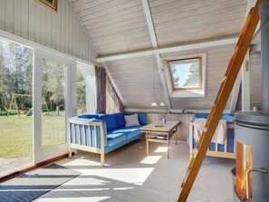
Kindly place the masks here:
[[(197, 141), (194, 139), (193, 121), (196, 119), (207, 119), (208, 113), (197, 113), (190, 121), (189, 131), (189, 157), (193, 156), (194, 149), (197, 148)], [(227, 138), (225, 144), (211, 142), (207, 150), (207, 156), (235, 159), (235, 118), (229, 114), (223, 114), (221, 120), (226, 120), (228, 124)]]

